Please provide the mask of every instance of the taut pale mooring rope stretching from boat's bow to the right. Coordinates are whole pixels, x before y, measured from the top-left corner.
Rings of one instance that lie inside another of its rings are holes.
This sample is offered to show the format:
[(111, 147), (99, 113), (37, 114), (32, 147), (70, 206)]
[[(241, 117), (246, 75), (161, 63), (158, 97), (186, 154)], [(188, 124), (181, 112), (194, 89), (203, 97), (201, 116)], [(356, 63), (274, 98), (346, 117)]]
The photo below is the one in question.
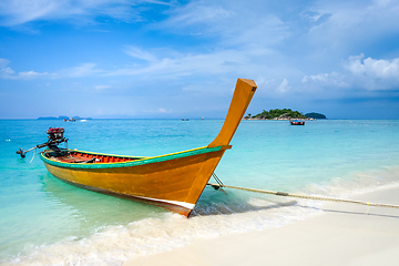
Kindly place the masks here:
[(212, 186), (214, 188), (215, 187), (218, 187), (218, 188), (219, 187), (227, 187), (227, 188), (233, 188), (233, 190), (256, 192), (256, 193), (270, 194), (270, 195), (276, 195), (276, 196), (298, 197), (298, 198), (315, 200), (315, 201), (326, 201), (326, 202), (354, 203), (354, 204), (367, 205), (368, 207), (369, 206), (376, 206), (376, 207), (399, 208), (399, 205), (392, 205), (392, 204), (360, 202), (360, 201), (354, 201), (354, 200), (344, 200), (344, 198), (324, 197), (324, 196), (300, 195), (300, 194), (294, 194), (294, 193), (287, 193), (287, 192), (265, 191), (265, 190), (248, 188), (248, 187), (241, 187), (241, 186), (219, 185), (219, 184), (214, 184), (214, 183), (208, 183), (207, 185), (209, 185), (209, 186)]

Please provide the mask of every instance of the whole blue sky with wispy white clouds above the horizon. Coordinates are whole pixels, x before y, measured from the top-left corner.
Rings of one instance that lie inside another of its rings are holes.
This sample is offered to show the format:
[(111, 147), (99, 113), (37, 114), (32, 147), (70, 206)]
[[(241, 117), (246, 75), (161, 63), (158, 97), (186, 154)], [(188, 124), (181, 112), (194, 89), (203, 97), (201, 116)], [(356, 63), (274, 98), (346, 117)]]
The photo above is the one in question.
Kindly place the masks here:
[(399, 1), (6, 0), (0, 119), (399, 119)]

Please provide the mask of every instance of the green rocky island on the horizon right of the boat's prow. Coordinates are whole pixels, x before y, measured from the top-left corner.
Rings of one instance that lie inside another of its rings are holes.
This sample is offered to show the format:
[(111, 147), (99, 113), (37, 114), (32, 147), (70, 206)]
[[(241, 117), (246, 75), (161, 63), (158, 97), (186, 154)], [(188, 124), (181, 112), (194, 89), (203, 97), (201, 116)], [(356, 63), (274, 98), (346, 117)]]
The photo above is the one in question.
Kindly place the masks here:
[(298, 111), (293, 111), (290, 109), (272, 109), (269, 111), (264, 110), (262, 113), (252, 115), (247, 114), (244, 116), (245, 120), (316, 120), (316, 119), (327, 119), (326, 115), (320, 113), (307, 113), (303, 114)]

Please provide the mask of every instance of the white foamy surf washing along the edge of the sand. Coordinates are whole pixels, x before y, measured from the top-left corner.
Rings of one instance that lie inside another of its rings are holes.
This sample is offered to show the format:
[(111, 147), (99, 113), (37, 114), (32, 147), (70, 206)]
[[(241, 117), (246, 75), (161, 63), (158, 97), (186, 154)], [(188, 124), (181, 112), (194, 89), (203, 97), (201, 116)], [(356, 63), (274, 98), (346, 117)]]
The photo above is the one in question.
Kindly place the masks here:
[[(399, 167), (311, 184), (300, 193), (349, 197), (382, 186), (399, 185)], [(198, 203), (191, 218), (164, 213), (127, 225), (103, 226), (86, 238), (35, 247), (4, 265), (121, 265), (125, 259), (186, 246), (197, 238), (213, 238), (238, 232), (260, 231), (321, 214), (323, 202), (252, 194), (241, 204)]]

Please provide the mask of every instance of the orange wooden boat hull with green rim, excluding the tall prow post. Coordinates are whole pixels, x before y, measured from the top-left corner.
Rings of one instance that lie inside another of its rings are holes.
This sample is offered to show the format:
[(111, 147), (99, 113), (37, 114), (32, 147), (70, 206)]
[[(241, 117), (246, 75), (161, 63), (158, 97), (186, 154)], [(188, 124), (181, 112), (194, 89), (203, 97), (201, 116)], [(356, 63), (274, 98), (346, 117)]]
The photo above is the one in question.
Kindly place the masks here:
[(225, 150), (229, 147), (203, 147), (110, 164), (57, 162), (49, 158), (51, 151), (42, 152), (40, 157), (48, 171), (63, 181), (91, 191), (129, 196), (188, 217)]

